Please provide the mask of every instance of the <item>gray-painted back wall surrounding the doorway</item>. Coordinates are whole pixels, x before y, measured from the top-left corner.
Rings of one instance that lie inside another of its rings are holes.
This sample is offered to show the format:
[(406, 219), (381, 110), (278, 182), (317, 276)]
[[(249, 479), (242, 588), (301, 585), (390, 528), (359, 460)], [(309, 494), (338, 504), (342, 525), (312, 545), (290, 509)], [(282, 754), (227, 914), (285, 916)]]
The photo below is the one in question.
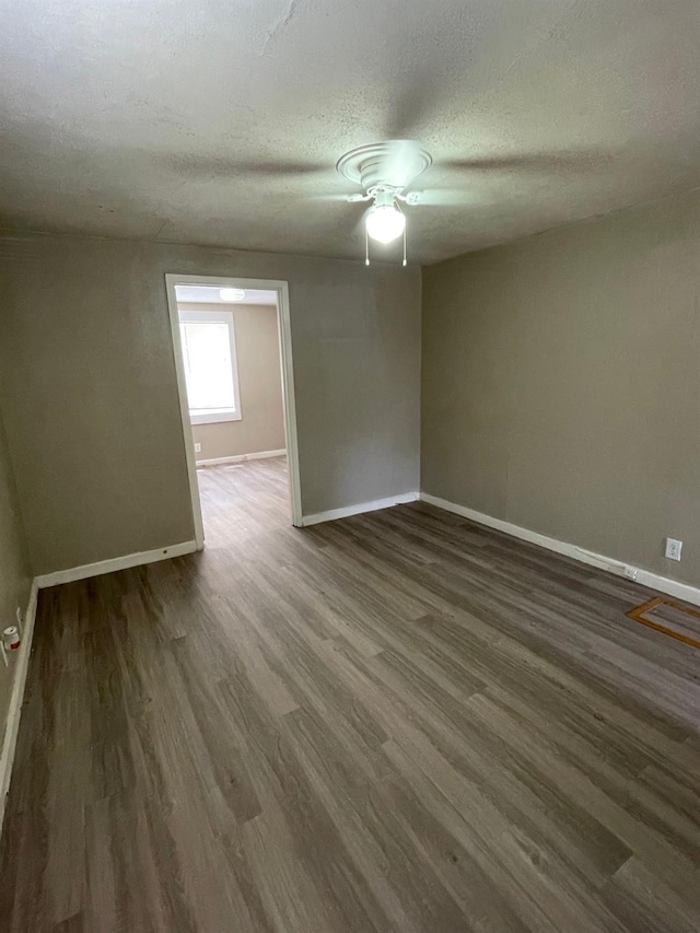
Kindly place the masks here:
[(418, 488), (420, 269), (0, 240), (0, 390), (35, 573), (194, 536), (166, 272), (290, 285), (306, 514)]

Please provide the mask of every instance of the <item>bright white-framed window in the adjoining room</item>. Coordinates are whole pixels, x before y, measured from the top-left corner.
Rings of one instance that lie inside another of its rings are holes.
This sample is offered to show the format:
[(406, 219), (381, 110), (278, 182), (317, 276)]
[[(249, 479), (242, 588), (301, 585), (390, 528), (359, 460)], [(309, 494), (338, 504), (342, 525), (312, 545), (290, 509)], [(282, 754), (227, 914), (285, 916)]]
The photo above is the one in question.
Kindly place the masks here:
[(191, 423), (240, 421), (233, 313), (180, 311), (179, 335)]

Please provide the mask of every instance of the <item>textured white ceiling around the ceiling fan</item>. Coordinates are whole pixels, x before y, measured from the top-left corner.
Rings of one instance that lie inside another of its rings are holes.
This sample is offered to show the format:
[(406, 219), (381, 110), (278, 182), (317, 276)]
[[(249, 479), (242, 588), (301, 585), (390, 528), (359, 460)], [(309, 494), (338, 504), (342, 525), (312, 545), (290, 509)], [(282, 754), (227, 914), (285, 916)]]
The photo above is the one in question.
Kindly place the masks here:
[(358, 257), (315, 196), (411, 138), (434, 261), (700, 185), (699, 48), (698, 0), (4, 0), (0, 225)]

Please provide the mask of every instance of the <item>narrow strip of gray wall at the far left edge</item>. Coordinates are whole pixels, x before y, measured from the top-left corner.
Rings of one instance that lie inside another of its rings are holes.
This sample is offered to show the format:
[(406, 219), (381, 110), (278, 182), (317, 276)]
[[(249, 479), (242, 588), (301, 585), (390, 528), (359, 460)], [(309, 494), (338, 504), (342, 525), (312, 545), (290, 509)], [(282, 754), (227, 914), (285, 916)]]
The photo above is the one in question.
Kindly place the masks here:
[[(1, 339), (0, 322), (0, 339)], [(25, 611), (30, 598), (32, 575), (24, 544), (24, 532), (14, 481), (10, 453), (0, 411), (0, 631), (15, 622), (16, 607)], [(0, 746), (4, 735), (5, 719), (16, 667), (13, 657), (10, 667), (0, 661)]]

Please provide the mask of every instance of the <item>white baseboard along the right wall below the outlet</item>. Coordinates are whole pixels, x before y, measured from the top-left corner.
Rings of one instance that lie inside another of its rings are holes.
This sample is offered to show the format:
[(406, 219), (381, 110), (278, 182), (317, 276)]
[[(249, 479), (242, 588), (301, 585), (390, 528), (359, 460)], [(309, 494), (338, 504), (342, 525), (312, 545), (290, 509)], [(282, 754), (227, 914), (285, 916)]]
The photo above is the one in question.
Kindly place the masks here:
[(523, 541), (529, 541), (533, 545), (539, 545), (541, 548), (562, 553), (565, 557), (580, 560), (582, 563), (588, 563), (592, 567), (597, 567), (600, 570), (607, 570), (608, 573), (616, 573), (618, 576), (626, 576), (633, 583), (641, 583), (642, 586), (649, 586), (650, 590), (658, 590), (661, 593), (666, 593), (676, 599), (684, 599), (686, 603), (692, 603), (700, 606), (700, 588), (691, 586), (689, 583), (679, 583), (677, 580), (670, 580), (668, 576), (662, 576), (660, 573), (652, 573), (651, 570), (644, 570), (641, 567), (634, 567), (630, 563), (623, 563), (605, 555), (588, 551), (580, 548), (576, 545), (571, 545), (568, 541), (560, 541), (557, 538), (550, 538), (548, 535), (540, 535), (538, 532), (530, 532), (528, 528), (523, 528), (520, 525), (513, 525), (511, 522), (504, 522), (502, 518), (493, 518), (491, 515), (485, 515), (483, 512), (476, 512), (474, 509), (468, 509), (466, 505), (457, 505), (455, 502), (450, 502), (446, 499), (440, 499), (436, 495), (431, 495), (428, 492), (420, 493), (421, 502), (428, 502), (430, 505), (435, 505), (438, 509), (444, 509), (446, 512), (454, 512), (456, 515), (463, 515), (465, 518), (470, 518), (479, 525), (487, 525), (489, 528), (495, 528), (499, 532), (505, 532), (506, 535), (512, 535), (514, 538), (520, 538)]

